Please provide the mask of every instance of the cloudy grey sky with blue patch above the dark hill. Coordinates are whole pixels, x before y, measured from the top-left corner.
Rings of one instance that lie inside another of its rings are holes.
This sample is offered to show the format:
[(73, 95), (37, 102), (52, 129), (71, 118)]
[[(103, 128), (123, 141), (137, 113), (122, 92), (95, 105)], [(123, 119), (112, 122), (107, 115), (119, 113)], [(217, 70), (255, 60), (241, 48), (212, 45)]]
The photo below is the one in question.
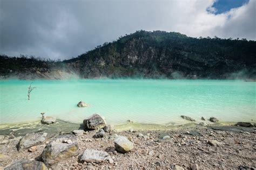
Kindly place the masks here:
[(256, 0), (0, 0), (0, 53), (76, 57), (137, 30), (256, 40)]

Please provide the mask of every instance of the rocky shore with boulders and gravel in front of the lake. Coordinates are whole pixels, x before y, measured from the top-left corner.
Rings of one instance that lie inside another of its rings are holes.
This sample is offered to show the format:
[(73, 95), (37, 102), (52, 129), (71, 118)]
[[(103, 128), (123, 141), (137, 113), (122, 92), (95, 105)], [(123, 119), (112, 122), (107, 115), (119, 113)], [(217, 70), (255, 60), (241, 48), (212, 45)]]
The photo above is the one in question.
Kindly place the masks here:
[(117, 131), (92, 115), (0, 129), (0, 169), (255, 169), (255, 150), (252, 123)]

